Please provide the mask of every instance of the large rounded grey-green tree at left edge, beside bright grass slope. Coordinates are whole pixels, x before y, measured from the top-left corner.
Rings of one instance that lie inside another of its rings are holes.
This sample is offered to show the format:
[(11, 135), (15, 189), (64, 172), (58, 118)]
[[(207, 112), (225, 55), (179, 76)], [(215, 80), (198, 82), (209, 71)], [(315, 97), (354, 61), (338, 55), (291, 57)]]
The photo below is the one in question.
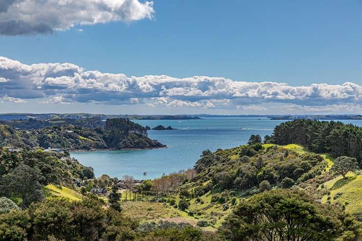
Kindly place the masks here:
[(4, 192), (2, 195), (7, 197), (11, 195), (21, 197), (22, 203), (20, 207), (25, 208), (31, 202), (44, 198), (43, 185), (39, 183), (43, 179), (44, 177), (40, 175), (38, 168), (20, 164), (12, 172), (0, 179), (0, 191)]

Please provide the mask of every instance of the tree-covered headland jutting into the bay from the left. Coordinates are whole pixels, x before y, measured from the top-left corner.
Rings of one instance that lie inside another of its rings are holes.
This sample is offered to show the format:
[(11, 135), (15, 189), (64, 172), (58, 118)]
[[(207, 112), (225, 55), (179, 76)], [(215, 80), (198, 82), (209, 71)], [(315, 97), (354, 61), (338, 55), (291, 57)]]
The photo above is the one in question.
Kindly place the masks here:
[[(103, 122), (96, 118), (95, 122), (92, 122), (94, 118), (74, 120), (77, 125), (63, 123), (31, 130), (0, 125), (0, 145), (25, 149), (50, 147), (71, 150), (165, 147), (158, 141), (148, 138), (144, 127), (128, 119), (107, 119)], [(95, 124), (99, 122), (104, 127)], [(21, 123), (22, 125), (29, 123), (32, 126), (31, 123), (39, 124), (39, 121), (29, 119)], [(87, 127), (92, 125), (97, 127)]]

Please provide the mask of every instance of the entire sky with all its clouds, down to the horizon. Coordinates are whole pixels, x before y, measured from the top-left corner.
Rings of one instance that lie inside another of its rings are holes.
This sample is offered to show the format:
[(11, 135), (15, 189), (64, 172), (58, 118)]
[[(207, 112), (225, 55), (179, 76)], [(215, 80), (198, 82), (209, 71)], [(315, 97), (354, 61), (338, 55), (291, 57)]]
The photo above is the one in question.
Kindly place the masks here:
[(0, 112), (362, 114), (362, 1), (2, 0)]

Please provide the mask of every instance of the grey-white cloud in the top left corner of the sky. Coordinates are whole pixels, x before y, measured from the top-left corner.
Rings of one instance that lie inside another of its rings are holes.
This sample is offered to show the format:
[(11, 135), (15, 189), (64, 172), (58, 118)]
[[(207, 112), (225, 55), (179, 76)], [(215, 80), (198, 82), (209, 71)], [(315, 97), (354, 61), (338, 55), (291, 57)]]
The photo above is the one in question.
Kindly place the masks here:
[(76, 25), (152, 19), (152, 1), (139, 0), (1, 0), (0, 34), (64, 31)]

